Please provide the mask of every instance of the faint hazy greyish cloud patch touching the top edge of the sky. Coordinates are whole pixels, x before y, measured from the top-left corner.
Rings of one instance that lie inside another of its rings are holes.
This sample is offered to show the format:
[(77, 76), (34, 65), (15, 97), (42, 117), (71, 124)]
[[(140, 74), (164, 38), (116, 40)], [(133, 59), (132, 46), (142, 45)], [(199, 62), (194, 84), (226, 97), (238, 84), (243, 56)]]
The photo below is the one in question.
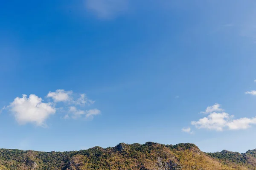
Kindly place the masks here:
[(128, 0), (86, 0), (86, 7), (99, 18), (110, 19), (128, 9)]

